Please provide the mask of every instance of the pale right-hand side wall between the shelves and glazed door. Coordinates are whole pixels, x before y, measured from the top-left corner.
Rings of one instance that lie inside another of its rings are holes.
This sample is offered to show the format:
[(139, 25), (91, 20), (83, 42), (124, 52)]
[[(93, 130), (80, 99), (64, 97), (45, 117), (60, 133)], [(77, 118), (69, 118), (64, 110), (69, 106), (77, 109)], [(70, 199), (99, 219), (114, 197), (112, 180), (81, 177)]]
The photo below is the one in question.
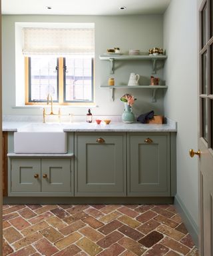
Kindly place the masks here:
[(165, 115), (178, 122), (177, 195), (198, 225), (198, 45), (196, 0), (172, 0), (164, 13), (164, 48), (168, 55)]

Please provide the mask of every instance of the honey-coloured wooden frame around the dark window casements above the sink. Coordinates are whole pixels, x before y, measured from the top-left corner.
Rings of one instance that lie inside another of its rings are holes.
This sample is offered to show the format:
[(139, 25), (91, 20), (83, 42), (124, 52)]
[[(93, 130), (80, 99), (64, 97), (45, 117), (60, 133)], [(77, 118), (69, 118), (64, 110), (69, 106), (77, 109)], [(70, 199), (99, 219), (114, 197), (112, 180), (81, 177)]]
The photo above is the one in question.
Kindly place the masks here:
[[(64, 58), (58, 57), (58, 65), (59, 65), (59, 71), (58, 71), (58, 93), (59, 93), (59, 101), (53, 102), (53, 105), (73, 105), (73, 106), (81, 106), (81, 105), (95, 105), (94, 99), (95, 99), (95, 79), (94, 79), (94, 59), (92, 63), (92, 71), (93, 71), (93, 81), (92, 81), (92, 101), (84, 101), (84, 102), (67, 102), (64, 101), (64, 92), (65, 92), (65, 68), (64, 68)], [(33, 102), (29, 101), (29, 57), (25, 57), (25, 105), (44, 105), (46, 104), (45, 101), (43, 102)]]

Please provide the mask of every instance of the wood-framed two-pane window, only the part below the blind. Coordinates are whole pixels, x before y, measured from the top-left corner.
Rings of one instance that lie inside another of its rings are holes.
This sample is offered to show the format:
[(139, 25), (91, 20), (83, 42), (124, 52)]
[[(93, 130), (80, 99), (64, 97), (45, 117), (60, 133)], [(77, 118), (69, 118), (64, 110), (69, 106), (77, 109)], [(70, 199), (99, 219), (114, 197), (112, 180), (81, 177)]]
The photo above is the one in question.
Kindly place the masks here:
[(25, 57), (25, 104), (93, 103), (93, 58)]

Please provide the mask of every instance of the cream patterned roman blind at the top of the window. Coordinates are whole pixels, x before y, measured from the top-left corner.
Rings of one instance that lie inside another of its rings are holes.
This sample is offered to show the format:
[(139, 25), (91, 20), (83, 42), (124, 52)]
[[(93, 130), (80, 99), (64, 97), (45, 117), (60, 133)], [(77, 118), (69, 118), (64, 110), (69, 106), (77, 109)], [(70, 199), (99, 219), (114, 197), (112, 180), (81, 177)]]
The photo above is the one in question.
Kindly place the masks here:
[(94, 53), (94, 27), (23, 27), (24, 55), (94, 55)]

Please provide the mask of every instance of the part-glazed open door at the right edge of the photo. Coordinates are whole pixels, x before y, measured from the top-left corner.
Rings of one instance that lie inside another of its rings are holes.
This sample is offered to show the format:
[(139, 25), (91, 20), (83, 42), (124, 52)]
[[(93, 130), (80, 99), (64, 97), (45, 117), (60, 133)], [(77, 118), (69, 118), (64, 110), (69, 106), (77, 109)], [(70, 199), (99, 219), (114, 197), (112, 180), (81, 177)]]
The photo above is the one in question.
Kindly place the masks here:
[(202, 2), (199, 47), (200, 136), (198, 145), (200, 252), (213, 255), (213, 1)]

